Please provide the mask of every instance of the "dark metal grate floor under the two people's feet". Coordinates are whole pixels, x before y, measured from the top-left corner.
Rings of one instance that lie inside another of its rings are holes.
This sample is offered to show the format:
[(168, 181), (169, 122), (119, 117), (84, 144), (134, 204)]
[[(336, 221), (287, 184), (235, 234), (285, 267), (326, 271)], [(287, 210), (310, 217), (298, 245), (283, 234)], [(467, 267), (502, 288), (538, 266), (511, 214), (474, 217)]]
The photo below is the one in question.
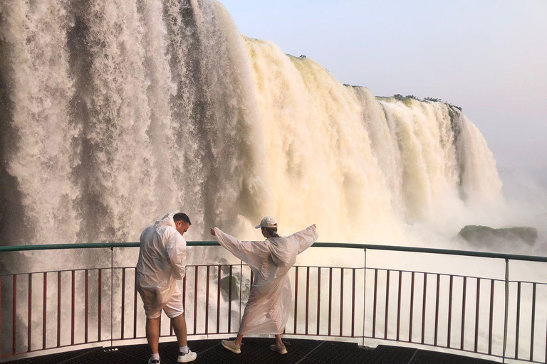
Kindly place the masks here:
[[(244, 338), (241, 354), (224, 349), (219, 340), (189, 341), (197, 353), (196, 363), (256, 363), (256, 364), (491, 364), (490, 360), (468, 358), (462, 355), (439, 353), (398, 346), (377, 346), (363, 349), (356, 343), (336, 341), (286, 339), (288, 353), (280, 355), (269, 350), (272, 338)], [(162, 364), (177, 363), (177, 343), (160, 343)], [(91, 348), (53, 355), (14, 360), (12, 364), (145, 364), (150, 358), (147, 345)]]

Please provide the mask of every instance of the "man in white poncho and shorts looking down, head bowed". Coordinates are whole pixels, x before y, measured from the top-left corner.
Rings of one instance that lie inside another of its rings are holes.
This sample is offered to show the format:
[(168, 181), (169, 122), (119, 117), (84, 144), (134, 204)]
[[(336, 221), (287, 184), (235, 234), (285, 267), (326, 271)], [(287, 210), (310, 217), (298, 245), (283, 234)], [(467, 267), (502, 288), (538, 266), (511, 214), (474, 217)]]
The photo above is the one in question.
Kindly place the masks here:
[(135, 269), (139, 291), (146, 313), (146, 338), (152, 356), (148, 364), (160, 364), (160, 316), (162, 310), (171, 319), (179, 343), (179, 363), (196, 359), (187, 345), (186, 321), (182, 294), (177, 280), (186, 274), (186, 240), (184, 232), (190, 228), (185, 213), (173, 211), (150, 225), (140, 235), (139, 261)]

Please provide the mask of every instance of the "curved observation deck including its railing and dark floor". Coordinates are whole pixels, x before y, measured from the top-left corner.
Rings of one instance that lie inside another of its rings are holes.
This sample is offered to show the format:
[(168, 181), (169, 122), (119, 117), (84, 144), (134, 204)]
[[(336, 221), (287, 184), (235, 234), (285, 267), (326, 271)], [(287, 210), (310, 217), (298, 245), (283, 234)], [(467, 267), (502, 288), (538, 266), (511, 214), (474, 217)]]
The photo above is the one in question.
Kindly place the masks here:
[[(546, 257), (316, 243), (289, 274), (288, 354), (245, 337), (236, 355), (220, 339), (235, 336), (253, 273), (217, 242), (188, 245), (179, 284), (204, 363), (547, 363)], [(0, 363), (146, 363), (138, 246), (0, 247)], [(162, 363), (176, 363), (174, 341), (163, 314)]]

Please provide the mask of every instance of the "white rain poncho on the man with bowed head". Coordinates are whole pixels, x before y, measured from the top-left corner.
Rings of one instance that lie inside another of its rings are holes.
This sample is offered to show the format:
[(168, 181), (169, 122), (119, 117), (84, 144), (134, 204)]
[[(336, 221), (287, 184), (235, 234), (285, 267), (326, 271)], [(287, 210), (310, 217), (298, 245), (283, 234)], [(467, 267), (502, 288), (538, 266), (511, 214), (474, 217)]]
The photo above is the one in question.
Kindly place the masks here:
[(184, 278), (186, 240), (175, 229), (173, 216), (177, 213), (168, 213), (140, 235), (136, 283), (147, 316), (167, 304), (177, 287), (177, 279)]

